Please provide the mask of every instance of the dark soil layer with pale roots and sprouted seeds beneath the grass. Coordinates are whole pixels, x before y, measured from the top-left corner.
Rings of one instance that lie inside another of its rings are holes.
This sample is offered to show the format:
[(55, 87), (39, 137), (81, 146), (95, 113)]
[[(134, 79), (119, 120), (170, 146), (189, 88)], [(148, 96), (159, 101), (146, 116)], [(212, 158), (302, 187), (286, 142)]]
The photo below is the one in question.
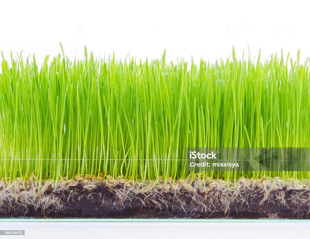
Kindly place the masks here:
[[(198, 175), (195, 175), (198, 176)], [(87, 179), (86, 179), (87, 178)], [(310, 218), (310, 186), (281, 178), (131, 183), (108, 177), (55, 185), (16, 180), (0, 191), (1, 217)], [(210, 178), (206, 178), (210, 180)]]

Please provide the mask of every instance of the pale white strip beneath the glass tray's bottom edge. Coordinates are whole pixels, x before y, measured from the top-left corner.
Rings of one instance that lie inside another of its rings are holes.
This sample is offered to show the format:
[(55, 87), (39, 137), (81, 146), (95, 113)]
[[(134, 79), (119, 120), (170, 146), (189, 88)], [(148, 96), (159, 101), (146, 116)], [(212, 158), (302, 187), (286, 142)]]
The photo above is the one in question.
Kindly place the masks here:
[[(308, 238), (304, 222), (0, 222), (0, 230), (25, 230), (17, 238), (189, 239)], [(1, 237), (1, 236), (0, 236)], [(3, 237), (3, 236), (2, 236)], [(7, 238), (7, 237), (5, 237)], [(8, 237), (10, 238), (10, 237)]]

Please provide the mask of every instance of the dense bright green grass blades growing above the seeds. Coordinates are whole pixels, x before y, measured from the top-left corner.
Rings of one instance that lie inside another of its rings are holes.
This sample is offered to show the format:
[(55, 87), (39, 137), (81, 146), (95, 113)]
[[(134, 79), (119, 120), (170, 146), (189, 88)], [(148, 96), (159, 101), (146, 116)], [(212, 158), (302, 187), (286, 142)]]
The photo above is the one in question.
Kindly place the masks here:
[[(309, 61), (196, 65), (86, 52), (6, 61), (0, 74), (0, 178), (76, 174), (186, 178), (186, 147), (310, 147)], [(199, 172), (211, 178), (310, 178), (309, 172)], [(193, 175), (193, 174), (191, 174)]]

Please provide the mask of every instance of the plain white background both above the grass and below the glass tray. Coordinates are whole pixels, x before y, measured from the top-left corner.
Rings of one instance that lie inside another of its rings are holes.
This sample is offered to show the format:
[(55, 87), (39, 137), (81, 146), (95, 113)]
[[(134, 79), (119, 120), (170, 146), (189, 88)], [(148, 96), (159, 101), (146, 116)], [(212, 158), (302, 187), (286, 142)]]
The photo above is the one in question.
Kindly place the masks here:
[[(1, 1), (0, 50), (23, 50), (23, 56), (61, 52), (82, 57), (84, 45), (95, 56), (115, 52), (166, 59), (177, 57), (197, 62), (229, 57), (232, 46), (242, 57), (248, 44), (252, 58), (289, 51), (293, 59), (310, 56), (309, 2), (307, 1)], [(2, 61), (2, 60), (1, 60)], [(26, 230), (26, 238), (250, 238), (302, 237), (310, 224), (298, 223), (171, 223), (171, 222), (0, 222), (0, 229)], [(91, 233), (91, 234), (89, 234)], [(23, 237), (23, 238), (25, 238)], [(68, 237), (66, 235), (65, 237)]]

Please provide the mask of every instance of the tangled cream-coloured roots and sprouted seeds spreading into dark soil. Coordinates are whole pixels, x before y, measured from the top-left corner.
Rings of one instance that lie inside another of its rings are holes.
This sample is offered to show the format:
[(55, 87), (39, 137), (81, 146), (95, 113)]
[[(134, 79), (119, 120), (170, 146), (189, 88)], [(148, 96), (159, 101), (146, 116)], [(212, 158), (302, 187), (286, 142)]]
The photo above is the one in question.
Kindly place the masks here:
[[(62, 180), (57, 184), (53, 180), (39, 182), (34, 177), (31, 179), (23, 181), (17, 178), (9, 184), (1, 180), (0, 216), (12, 216), (21, 211), (24, 215), (34, 211), (42, 217), (55, 216), (65, 212), (65, 205), (79, 205), (85, 201), (101, 208), (112, 205), (116, 212), (126, 208), (132, 211), (149, 208), (154, 214), (183, 212), (188, 217), (217, 214), (229, 217), (231, 211), (242, 214), (253, 205), (257, 211), (264, 211), (270, 205), (287, 209), (304, 205), (306, 214), (310, 214), (310, 186), (297, 180), (263, 177), (225, 182), (222, 179), (192, 181), (188, 177), (175, 182), (172, 179), (166, 183), (161, 180), (155, 185), (153, 181), (132, 182), (120, 177), (96, 179), (88, 176)], [(113, 195), (113, 200), (100, 188), (106, 188)]]

